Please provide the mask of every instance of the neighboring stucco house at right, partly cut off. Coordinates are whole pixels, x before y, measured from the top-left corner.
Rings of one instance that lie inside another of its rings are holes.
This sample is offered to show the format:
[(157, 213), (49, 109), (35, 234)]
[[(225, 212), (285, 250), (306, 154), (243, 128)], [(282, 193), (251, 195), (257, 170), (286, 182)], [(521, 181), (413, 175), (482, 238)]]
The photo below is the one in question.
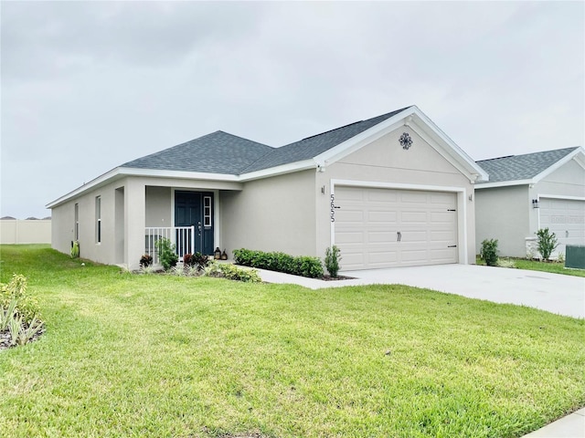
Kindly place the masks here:
[(566, 245), (585, 245), (585, 151), (582, 147), (477, 162), (489, 182), (475, 185), (475, 242), (497, 239), (500, 255), (539, 256), (536, 232)]

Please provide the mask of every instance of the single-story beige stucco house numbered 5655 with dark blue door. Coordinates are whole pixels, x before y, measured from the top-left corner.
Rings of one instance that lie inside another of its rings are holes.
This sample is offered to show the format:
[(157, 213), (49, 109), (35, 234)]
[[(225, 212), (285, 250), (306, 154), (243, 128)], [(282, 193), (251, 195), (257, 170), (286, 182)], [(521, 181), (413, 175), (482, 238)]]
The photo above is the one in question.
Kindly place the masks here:
[(412, 106), (280, 148), (217, 131), (126, 162), (48, 204), (52, 245), (133, 269), (246, 247), (344, 269), (474, 263), (473, 184), (486, 173)]

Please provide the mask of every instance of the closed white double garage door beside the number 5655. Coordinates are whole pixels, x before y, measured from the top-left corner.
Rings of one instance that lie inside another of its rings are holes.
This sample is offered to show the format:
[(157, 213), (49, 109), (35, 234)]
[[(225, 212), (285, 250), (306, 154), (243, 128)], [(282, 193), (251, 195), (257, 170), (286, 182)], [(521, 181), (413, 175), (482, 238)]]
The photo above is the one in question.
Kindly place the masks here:
[(335, 188), (342, 268), (457, 263), (456, 193)]

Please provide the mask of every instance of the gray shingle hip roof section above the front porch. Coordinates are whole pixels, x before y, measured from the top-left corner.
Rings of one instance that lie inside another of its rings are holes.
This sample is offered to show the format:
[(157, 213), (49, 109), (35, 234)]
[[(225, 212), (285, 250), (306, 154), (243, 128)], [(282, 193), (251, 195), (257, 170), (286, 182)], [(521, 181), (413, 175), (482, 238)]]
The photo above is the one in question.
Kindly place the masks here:
[(122, 167), (165, 171), (239, 174), (273, 148), (218, 130), (126, 162)]

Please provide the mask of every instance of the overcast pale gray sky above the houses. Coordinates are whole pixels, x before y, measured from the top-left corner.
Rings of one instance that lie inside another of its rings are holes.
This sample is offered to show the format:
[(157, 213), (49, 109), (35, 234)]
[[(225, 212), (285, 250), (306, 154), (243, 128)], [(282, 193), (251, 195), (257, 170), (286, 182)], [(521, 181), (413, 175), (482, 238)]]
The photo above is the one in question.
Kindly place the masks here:
[(5, 2), (0, 215), (215, 130), (417, 105), (474, 160), (582, 146), (583, 2)]

